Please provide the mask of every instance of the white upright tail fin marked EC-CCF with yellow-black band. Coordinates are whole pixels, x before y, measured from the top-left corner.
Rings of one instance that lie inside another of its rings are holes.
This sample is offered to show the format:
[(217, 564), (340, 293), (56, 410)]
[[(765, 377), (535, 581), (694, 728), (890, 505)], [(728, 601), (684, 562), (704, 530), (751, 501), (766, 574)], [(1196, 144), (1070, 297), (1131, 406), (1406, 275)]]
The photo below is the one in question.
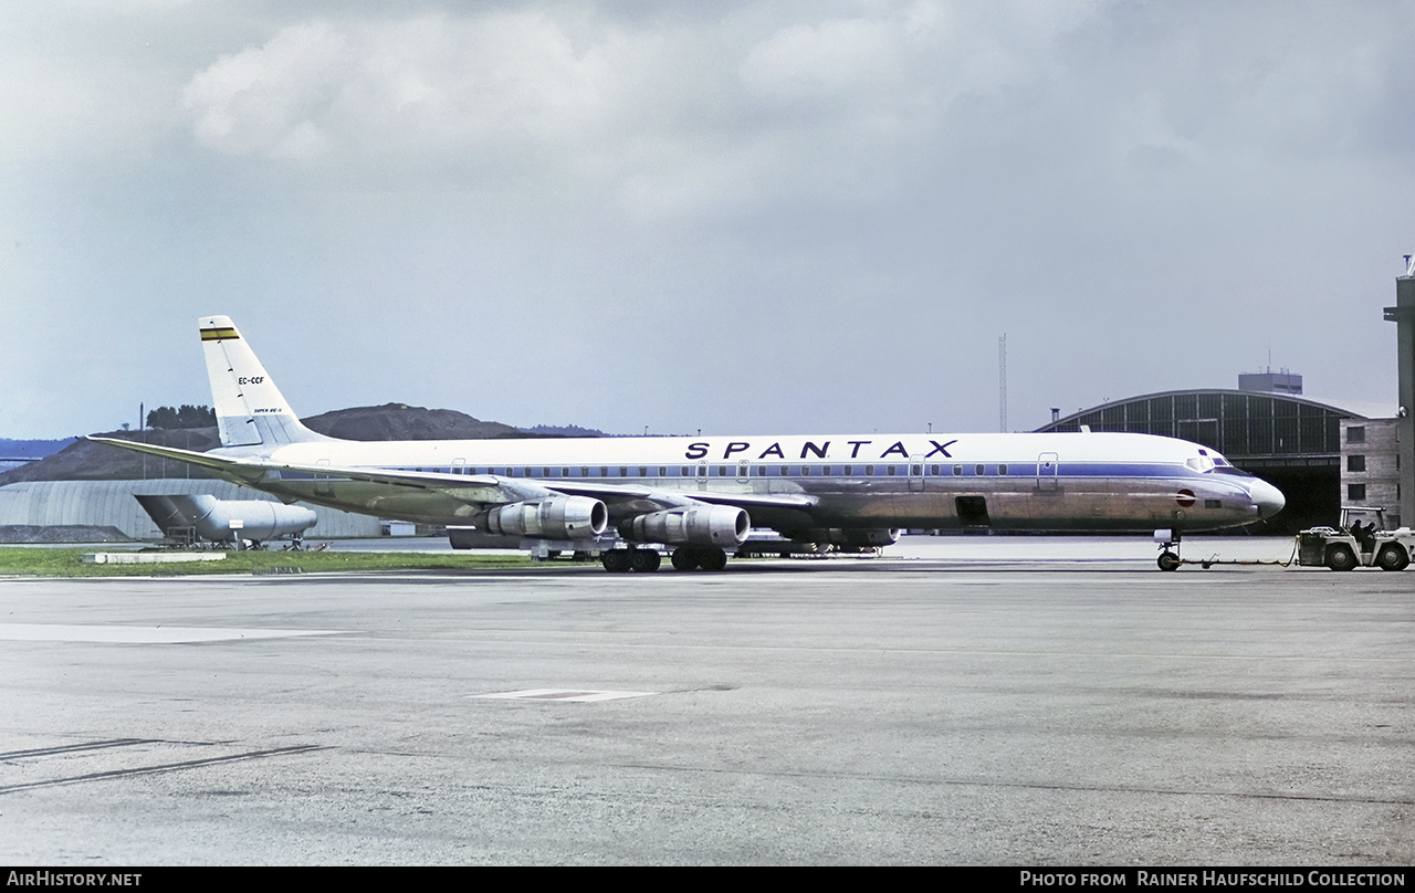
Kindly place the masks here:
[(280, 446), (334, 440), (300, 423), (231, 317), (198, 320), (221, 446)]

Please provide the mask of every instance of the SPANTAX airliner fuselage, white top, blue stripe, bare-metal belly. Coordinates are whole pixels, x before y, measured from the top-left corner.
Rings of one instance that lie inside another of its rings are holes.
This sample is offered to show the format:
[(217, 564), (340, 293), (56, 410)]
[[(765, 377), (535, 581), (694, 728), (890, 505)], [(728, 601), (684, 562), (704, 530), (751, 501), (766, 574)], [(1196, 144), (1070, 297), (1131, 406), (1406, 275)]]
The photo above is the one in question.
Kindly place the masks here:
[[(1281, 494), (1197, 444), (1149, 434), (832, 434), (515, 440), (317, 442), (224, 449), (269, 464), (495, 476), (601, 495), (611, 521), (640, 514), (647, 488), (692, 497), (788, 495), (809, 505), (751, 507), (758, 526), (1183, 531), (1258, 521)], [(270, 470), (256, 484), (289, 500), (424, 524), (467, 524), (467, 492), (389, 488)], [(391, 491), (392, 490), (392, 491)], [(613, 491), (610, 491), (613, 492)], [(468, 500), (467, 497), (473, 497)], [(502, 500), (505, 497), (501, 497)], [(488, 494), (488, 501), (492, 497)]]

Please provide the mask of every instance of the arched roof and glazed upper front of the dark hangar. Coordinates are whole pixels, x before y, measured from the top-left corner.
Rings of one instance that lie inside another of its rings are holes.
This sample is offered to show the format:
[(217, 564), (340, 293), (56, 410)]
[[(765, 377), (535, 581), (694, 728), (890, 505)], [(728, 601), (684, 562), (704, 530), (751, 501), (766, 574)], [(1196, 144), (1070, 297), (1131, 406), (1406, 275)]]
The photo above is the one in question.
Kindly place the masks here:
[(1354, 412), (1282, 393), (1165, 391), (1082, 409), (1039, 432), (1133, 432), (1210, 446), (1249, 471), (1290, 466), (1337, 466), (1341, 419)]

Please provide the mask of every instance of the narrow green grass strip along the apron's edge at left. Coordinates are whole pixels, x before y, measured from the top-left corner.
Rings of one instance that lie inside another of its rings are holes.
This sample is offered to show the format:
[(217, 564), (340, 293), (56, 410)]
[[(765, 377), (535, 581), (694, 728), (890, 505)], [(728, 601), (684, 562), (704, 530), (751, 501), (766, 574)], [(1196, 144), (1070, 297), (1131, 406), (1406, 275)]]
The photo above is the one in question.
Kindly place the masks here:
[(28, 549), (0, 546), (0, 575), (54, 577), (191, 576), (207, 573), (303, 573), (337, 570), (471, 570), (528, 568), (524, 555), (480, 552), (228, 552), (221, 562), (161, 565), (85, 565), (79, 555), (103, 549)]

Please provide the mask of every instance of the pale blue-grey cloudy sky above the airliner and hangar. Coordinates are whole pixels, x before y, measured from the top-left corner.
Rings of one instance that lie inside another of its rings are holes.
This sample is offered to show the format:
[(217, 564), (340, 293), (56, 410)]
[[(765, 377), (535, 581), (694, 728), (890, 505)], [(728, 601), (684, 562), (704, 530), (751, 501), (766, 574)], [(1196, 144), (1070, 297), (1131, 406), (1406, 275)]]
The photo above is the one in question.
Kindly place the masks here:
[(1407, 0), (0, 8), (0, 436), (300, 415), (990, 432), (1395, 402)]

